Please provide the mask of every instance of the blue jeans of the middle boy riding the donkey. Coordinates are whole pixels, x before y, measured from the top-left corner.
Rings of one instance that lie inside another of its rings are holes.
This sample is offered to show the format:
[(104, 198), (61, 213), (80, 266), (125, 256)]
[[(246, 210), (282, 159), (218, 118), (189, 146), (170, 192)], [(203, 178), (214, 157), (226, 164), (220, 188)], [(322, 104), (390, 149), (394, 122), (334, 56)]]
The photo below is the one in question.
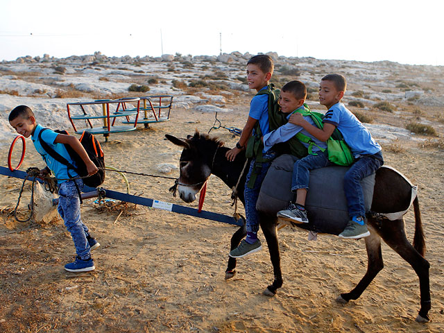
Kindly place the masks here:
[(318, 151), (318, 155), (307, 155), (293, 164), (293, 176), (291, 178), (291, 191), (296, 193), (297, 189), (308, 189), (310, 170), (321, 169), (334, 165), (328, 160), (327, 151)]

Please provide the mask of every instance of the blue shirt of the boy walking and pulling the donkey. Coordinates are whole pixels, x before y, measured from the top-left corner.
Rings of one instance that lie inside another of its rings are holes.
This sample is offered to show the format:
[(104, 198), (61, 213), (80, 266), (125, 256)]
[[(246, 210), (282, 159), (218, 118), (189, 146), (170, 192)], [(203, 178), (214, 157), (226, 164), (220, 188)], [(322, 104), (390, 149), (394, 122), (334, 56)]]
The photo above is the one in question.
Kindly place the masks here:
[[(31, 139), (33, 140), (35, 150), (37, 153), (40, 153), (42, 155), (42, 158), (46, 165), (51, 169), (53, 175), (57, 178), (58, 184), (61, 184), (62, 182), (66, 182), (68, 178), (78, 177), (78, 174), (74, 170), (69, 170), (68, 176), (68, 167), (65, 164), (62, 164), (55, 160), (49, 153), (46, 153), (46, 151), (42, 148), (42, 145), (39, 142), (39, 133), (43, 129), (40, 124), (37, 124), (35, 126), (35, 130), (33, 135), (31, 136)], [(46, 144), (49, 144), (51, 148), (53, 148), (57, 153), (62, 155), (62, 157), (65, 157), (65, 159), (70, 162), (71, 164), (75, 165), (75, 162), (71, 159), (71, 156), (69, 156), (69, 153), (67, 151), (67, 148), (65, 148), (64, 144), (55, 144), (54, 140), (58, 136), (58, 133), (54, 132), (51, 129), (47, 129), (42, 133), (42, 140), (46, 142)]]

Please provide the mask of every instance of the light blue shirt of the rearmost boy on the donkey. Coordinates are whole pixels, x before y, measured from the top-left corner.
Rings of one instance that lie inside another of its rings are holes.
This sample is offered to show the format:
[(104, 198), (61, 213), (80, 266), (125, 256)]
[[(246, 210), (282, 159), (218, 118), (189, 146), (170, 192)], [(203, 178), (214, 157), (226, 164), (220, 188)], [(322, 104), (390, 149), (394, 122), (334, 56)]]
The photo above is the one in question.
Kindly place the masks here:
[(373, 155), (381, 151), (381, 146), (373, 139), (368, 129), (343, 103), (334, 104), (325, 114), (323, 123), (331, 123), (338, 128), (355, 157)]

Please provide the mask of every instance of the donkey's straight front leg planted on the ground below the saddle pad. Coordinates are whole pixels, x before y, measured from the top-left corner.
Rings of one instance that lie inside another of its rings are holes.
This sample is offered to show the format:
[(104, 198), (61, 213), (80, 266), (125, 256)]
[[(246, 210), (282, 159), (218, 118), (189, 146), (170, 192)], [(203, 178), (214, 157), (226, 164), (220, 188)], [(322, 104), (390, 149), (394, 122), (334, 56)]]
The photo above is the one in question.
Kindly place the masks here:
[(264, 295), (275, 296), (276, 290), (282, 287), (282, 271), (280, 269), (280, 253), (278, 244), (278, 234), (276, 232), (276, 216), (269, 216), (262, 212), (259, 212), (259, 223), (261, 225), (262, 232), (264, 233), (266, 244), (268, 245), (268, 251), (270, 252), (271, 264), (273, 264), (273, 273), (275, 280), (273, 284), (266, 287)]

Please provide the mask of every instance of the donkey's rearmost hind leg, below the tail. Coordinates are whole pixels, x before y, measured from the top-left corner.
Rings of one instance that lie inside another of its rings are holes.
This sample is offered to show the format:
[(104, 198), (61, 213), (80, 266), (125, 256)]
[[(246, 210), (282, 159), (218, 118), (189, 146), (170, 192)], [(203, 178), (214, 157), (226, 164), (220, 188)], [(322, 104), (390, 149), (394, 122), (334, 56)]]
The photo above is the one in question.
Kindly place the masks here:
[(429, 321), (430, 284), (429, 267), (427, 260), (413, 248), (405, 234), (404, 219), (395, 221), (384, 221), (380, 229), (380, 235), (388, 246), (398, 253), (402, 259), (407, 261), (419, 278), (420, 304), (421, 308), (416, 317), (416, 321), (425, 323)]

